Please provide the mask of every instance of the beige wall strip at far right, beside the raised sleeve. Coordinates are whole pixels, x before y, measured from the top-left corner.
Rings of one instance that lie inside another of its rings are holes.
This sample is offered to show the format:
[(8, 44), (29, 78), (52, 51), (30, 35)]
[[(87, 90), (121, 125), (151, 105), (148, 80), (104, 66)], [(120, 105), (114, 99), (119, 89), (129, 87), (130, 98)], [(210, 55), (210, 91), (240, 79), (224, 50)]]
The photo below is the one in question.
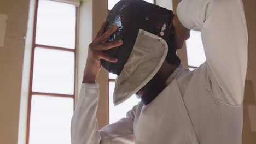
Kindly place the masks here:
[(245, 86), (245, 101), (243, 105), (243, 143), (256, 143), (256, 1), (243, 0), (247, 21), (248, 68)]

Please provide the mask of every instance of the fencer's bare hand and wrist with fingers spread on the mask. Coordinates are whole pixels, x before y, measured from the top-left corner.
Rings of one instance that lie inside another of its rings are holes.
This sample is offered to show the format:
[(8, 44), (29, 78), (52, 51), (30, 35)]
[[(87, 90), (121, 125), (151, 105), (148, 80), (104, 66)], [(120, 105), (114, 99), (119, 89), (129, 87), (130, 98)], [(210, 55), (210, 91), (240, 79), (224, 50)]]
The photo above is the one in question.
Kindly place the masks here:
[(102, 52), (104, 50), (112, 49), (123, 44), (122, 40), (116, 40), (110, 43), (106, 42), (108, 37), (110, 37), (110, 35), (112, 35), (118, 29), (118, 26), (115, 25), (109, 28), (106, 32), (104, 32), (106, 26), (107, 21), (102, 23), (96, 37), (94, 38), (92, 43), (89, 44), (88, 56), (84, 69), (83, 83), (95, 83), (96, 77), (101, 68), (101, 59), (109, 62), (118, 61), (117, 58), (110, 57), (106, 53)]

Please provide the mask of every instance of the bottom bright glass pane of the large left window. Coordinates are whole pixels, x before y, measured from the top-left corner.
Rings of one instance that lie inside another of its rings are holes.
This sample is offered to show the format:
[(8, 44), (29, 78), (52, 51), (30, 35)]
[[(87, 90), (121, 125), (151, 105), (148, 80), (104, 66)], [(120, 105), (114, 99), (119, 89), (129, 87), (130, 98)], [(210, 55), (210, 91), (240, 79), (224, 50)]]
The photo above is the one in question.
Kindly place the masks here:
[(70, 144), (73, 98), (32, 95), (30, 144)]

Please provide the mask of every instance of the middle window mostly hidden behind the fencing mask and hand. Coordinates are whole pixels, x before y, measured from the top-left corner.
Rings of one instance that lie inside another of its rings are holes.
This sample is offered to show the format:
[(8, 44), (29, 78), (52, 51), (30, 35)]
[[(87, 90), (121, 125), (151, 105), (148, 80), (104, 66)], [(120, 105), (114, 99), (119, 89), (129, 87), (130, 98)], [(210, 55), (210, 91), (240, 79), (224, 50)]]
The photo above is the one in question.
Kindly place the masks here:
[[(112, 9), (119, 0), (108, 0), (108, 10)], [(154, 0), (147, 0), (149, 3), (154, 3)], [(114, 106), (113, 92), (115, 88), (115, 78), (117, 75), (112, 73), (108, 74), (108, 89), (109, 89), (109, 124), (117, 122), (119, 119), (126, 117), (126, 113), (137, 105), (140, 101), (136, 95), (124, 101), (124, 103)]]

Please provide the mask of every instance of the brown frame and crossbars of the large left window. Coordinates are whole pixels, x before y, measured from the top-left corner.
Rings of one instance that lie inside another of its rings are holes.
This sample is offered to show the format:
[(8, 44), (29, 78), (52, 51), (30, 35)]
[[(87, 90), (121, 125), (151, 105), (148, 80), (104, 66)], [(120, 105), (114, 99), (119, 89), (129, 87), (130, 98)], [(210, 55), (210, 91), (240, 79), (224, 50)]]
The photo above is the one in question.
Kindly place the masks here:
[[(32, 95), (44, 95), (49, 97), (65, 97), (73, 98), (73, 111), (75, 109), (75, 94), (77, 87), (77, 49), (78, 49), (78, 11), (79, 7), (75, 6), (75, 46), (74, 49), (68, 49), (65, 47), (49, 46), (49, 45), (40, 45), (36, 44), (36, 29), (37, 29), (37, 16), (38, 16), (38, 3), (40, 0), (36, 0), (35, 9), (34, 9), (34, 22), (33, 22), (33, 38), (32, 38), (32, 52), (31, 52), (31, 64), (30, 64), (30, 81), (29, 81), (29, 91), (28, 91), (28, 109), (27, 109), (27, 127), (26, 127), (26, 144), (29, 144), (30, 140), (30, 116), (31, 116), (31, 100)], [(64, 2), (61, 2), (64, 3)], [(34, 70), (34, 51), (36, 47), (43, 49), (51, 50), (60, 50), (60, 51), (69, 51), (74, 52), (74, 93), (73, 94), (59, 94), (59, 93), (45, 93), (45, 92), (33, 92), (32, 83), (33, 83), (33, 70)]]

